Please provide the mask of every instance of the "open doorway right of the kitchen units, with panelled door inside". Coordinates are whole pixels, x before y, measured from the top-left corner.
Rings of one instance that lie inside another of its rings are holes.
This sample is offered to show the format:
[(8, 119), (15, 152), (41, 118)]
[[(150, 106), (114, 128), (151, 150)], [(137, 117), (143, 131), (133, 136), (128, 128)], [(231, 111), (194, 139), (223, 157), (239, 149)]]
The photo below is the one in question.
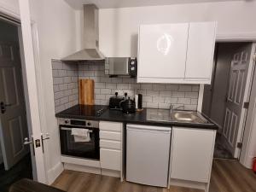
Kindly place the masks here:
[(212, 84), (205, 85), (202, 113), (218, 125), (214, 158), (239, 159), (250, 84), (253, 43), (217, 43)]

